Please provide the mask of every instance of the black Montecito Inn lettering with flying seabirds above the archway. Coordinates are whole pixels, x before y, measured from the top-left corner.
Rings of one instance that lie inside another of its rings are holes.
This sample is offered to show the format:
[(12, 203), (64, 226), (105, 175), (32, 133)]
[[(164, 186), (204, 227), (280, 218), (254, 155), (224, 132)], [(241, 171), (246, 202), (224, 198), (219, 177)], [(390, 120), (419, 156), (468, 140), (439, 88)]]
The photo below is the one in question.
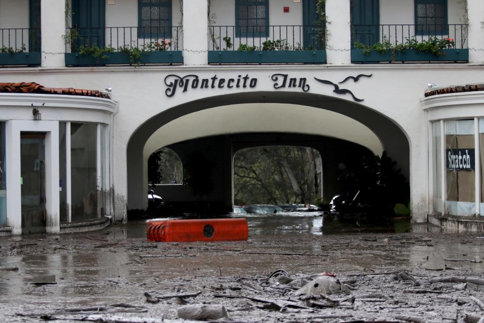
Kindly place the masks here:
[[(353, 82), (358, 82), (361, 77), (372, 77), (373, 74), (365, 75), (360, 74), (357, 76), (348, 76), (343, 81), (338, 82), (338, 84), (343, 84), (346, 81), (352, 80)], [(340, 95), (345, 95), (346, 93), (350, 94), (353, 99), (357, 102), (362, 101), (363, 99), (359, 99), (353, 95), (353, 93), (344, 88), (340, 88), (340, 86), (336, 83), (333, 83), (328, 80), (323, 80), (319, 78), (314, 78), (316, 81), (331, 85), (334, 87), (333, 92)], [(272, 74), (271, 80), (273, 82), (274, 89), (284, 89), (284, 88), (300, 88), (304, 92), (308, 92), (311, 88), (309, 81), (305, 77), (290, 77), (289, 74)], [(188, 92), (189, 90), (205, 90), (205, 89), (244, 89), (244, 88), (256, 88), (257, 87), (258, 79), (255, 77), (246, 75), (237, 75), (233, 78), (223, 78), (217, 77), (215, 74), (210, 78), (200, 78), (198, 75), (189, 74), (186, 76), (178, 76), (176, 74), (169, 74), (165, 77), (165, 85), (166, 90), (165, 94), (168, 97), (174, 96), (175, 93), (181, 91), (181, 93)]]

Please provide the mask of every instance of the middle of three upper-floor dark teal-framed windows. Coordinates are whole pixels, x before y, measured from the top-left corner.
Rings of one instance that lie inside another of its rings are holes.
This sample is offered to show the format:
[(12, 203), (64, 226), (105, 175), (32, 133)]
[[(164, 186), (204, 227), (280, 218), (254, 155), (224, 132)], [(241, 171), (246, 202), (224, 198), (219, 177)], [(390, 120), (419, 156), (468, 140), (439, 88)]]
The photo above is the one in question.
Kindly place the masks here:
[(269, 29), (268, 0), (235, 1), (235, 36), (267, 37)]

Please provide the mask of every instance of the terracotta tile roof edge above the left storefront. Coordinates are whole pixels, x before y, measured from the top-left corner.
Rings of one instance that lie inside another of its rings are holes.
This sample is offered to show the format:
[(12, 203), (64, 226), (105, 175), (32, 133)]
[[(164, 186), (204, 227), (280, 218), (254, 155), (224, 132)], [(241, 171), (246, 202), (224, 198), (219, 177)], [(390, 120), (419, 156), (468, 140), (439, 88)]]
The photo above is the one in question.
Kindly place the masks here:
[(103, 94), (98, 90), (83, 90), (72, 87), (43, 87), (34, 82), (0, 83), (0, 93), (66, 94), (109, 98), (109, 95)]

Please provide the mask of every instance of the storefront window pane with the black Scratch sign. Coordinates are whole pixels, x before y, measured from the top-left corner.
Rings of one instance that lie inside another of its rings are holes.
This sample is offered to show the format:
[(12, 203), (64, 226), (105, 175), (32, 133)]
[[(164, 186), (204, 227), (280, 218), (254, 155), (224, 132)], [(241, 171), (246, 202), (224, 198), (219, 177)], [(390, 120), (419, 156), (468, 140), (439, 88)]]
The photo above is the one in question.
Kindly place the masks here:
[(445, 122), (446, 213), (475, 214), (474, 120)]

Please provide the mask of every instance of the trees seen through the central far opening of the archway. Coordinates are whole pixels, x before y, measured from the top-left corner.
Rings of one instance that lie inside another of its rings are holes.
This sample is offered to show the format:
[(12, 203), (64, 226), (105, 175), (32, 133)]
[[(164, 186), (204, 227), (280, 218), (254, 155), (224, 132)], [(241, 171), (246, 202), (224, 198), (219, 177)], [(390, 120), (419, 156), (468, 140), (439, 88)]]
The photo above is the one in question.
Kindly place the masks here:
[(239, 151), (234, 159), (236, 204), (314, 203), (321, 156), (313, 148), (277, 146)]

